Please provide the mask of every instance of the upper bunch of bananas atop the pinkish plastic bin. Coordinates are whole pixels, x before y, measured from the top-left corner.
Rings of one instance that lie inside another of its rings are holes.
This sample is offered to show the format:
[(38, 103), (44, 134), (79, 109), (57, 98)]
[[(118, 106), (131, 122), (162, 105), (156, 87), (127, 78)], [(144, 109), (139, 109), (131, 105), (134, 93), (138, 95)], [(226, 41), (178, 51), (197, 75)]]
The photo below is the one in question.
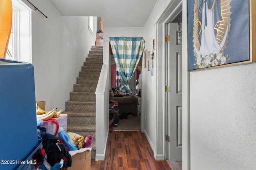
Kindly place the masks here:
[(46, 111), (41, 109), (38, 106), (38, 103), (36, 104), (36, 118), (41, 119), (41, 120), (49, 120), (50, 118), (56, 118), (59, 117), (62, 112), (62, 109), (57, 112), (57, 107), (55, 109), (52, 109), (51, 111)]

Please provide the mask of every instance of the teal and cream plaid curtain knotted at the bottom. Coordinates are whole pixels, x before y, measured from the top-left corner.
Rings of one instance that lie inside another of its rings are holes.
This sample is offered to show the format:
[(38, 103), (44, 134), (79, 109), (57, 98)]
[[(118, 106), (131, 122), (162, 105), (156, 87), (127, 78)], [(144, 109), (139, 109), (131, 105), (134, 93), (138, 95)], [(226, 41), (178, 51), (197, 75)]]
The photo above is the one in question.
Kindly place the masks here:
[(145, 41), (142, 37), (110, 37), (110, 45), (117, 71), (124, 82), (124, 86), (121, 86), (120, 91), (122, 94), (132, 93), (128, 82), (140, 61)]

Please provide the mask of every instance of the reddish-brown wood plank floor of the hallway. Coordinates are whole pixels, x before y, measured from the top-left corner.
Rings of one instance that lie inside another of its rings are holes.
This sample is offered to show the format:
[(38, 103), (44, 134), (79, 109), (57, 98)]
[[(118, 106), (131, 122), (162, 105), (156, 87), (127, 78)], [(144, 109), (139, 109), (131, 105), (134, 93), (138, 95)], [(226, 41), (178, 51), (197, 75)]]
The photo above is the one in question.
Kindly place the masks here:
[(105, 160), (91, 160), (91, 170), (171, 170), (166, 161), (156, 161), (141, 131), (108, 134)]

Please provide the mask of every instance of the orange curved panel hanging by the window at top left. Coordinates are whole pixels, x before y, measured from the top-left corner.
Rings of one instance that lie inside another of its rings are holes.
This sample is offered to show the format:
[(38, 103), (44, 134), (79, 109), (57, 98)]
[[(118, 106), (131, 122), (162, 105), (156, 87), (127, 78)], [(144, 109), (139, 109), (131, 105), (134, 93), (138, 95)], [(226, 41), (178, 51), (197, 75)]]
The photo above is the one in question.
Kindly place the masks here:
[(12, 30), (12, 0), (0, 0), (0, 58), (5, 58)]

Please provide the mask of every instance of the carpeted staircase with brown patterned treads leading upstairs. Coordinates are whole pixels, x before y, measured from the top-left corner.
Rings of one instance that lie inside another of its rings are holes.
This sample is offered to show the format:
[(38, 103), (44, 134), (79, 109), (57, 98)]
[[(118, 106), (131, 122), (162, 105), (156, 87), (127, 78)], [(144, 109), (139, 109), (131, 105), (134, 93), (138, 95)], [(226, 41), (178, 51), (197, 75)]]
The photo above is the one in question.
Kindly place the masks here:
[(92, 159), (95, 159), (95, 90), (102, 63), (103, 46), (92, 46), (74, 84), (74, 92), (70, 92), (70, 100), (66, 102), (64, 111), (64, 114), (68, 114), (67, 131), (79, 135), (92, 135)]

